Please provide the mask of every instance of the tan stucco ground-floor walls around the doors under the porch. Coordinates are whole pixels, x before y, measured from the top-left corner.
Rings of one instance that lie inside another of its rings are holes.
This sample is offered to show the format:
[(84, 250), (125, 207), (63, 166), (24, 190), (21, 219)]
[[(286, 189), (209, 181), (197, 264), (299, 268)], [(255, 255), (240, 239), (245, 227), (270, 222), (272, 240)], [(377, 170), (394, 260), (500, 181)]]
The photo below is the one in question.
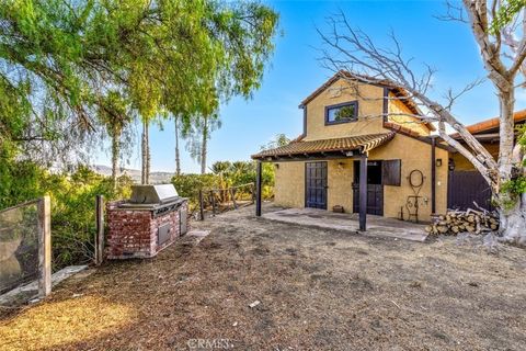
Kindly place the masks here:
[[(436, 148), (436, 158), (442, 158), (443, 166), (436, 168), (436, 211), (445, 213), (447, 208), (447, 158), (448, 152)], [(419, 217), (431, 217), (431, 145), (414, 138), (397, 134), (387, 145), (374, 149), (370, 160), (401, 159), (401, 186), (384, 186), (384, 216), (398, 217), (400, 207), (405, 205), (413, 194), (409, 185), (409, 173), (419, 169), (424, 173), (424, 184), (420, 191)], [(343, 205), (345, 212), (353, 211), (353, 159), (328, 161), (328, 210)], [(340, 166), (339, 163), (342, 163)], [(305, 206), (305, 162), (281, 162), (276, 169), (275, 203), (287, 207)], [(404, 207), (407, 218), (407, 208)]]

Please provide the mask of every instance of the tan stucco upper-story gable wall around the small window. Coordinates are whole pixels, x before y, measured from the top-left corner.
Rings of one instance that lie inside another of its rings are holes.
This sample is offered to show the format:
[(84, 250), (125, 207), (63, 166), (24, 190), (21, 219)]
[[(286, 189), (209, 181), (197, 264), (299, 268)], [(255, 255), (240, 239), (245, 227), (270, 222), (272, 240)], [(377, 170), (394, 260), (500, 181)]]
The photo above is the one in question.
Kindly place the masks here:
[[(366, 98), (366, 99), (364, 99)], [(384, 88), (340, 79), (307, 104), (305, 140), (350, 135), (385, 133), (382, 127)], [(358, 121), (325, 126), (325, 106), (358, 101)]]

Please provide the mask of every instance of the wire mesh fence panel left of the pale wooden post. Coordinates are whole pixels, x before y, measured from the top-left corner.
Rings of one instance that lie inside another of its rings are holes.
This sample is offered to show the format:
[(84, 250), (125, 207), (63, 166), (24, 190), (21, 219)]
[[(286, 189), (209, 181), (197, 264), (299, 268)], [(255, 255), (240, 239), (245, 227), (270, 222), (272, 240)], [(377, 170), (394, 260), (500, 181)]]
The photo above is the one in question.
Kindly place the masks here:
[(0, 294), (38, 279), (37, 202), (0, 211)]

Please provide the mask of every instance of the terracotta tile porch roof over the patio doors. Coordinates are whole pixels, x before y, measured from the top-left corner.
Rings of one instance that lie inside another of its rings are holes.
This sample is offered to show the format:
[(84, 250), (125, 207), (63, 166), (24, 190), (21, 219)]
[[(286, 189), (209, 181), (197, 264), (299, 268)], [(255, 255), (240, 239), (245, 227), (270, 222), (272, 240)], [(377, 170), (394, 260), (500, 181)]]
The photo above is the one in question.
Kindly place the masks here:
[(312, 155), (333, 151), (359, 150), (367, 152), (375, 147), (388, 143), (395, 137), (395, 132), (382, 134), (366, 134), (333, 139), (320, 139), (309, 141), (291, 141), (288, 145), (275, 149), (263, 150), (252, 155), (253, 159), (264, 159), (283, 156)]

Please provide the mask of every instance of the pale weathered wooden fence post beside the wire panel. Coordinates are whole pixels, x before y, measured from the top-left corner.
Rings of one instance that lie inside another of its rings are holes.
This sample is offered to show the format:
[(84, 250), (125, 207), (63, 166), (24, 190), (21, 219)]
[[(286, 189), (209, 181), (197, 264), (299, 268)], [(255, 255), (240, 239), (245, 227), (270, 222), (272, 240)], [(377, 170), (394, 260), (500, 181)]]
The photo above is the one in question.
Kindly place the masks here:
[(38, 296), (52, 293), (52, 205), (49, 196), (38, 200)]

